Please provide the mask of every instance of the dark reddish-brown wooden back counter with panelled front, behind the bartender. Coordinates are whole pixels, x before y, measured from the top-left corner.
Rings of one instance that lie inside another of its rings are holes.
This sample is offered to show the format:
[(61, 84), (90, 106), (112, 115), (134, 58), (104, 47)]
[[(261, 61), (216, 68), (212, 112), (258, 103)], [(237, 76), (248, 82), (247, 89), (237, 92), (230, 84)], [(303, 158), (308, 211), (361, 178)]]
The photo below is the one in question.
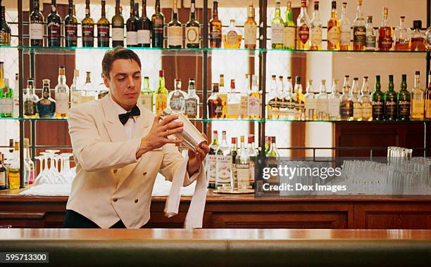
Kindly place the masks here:
[[(0, 225), (60, 228), (68, 197), (0, 191)], [(182, 228), (191, 197), (166, 218), (165, 197), (153, 197), (147, 228)], [(204, 228), (431, 229), (431, 196), (292, 196), (255, 198), (208, 191)]]

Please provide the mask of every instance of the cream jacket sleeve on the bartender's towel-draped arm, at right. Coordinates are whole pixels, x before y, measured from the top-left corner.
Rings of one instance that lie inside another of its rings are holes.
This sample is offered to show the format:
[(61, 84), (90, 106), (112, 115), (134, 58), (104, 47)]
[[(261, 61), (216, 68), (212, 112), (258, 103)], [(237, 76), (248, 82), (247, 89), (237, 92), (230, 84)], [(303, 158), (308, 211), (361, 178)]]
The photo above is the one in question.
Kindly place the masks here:
[[(175, 171), (177, 171), (177, 167), (181, 164), (182, 161), (185, 160), (184, 157), (178, 151), (178, 148), (174, 144), (166, 144), (163, 148), (163, 161), (160, 168), (160, 173), (165, 176), (165, 179), (168, 181), (172, 181)], [(182, 186), (187, 186), (190, 183), (193, 183), (196, 178), (199, 177), (199, 173), (201, 172), (201, 168), (199, 167), (199, 171), (196, 171), (192, 177), (189, 176), (189, 172), (186, 170), (184, 183)]]

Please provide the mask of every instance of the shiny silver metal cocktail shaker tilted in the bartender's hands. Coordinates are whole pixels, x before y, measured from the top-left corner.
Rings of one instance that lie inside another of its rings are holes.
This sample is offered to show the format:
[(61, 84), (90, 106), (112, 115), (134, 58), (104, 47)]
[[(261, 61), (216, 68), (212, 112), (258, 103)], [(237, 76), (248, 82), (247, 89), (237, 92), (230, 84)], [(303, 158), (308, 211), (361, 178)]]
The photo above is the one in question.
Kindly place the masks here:
[(190, 122), (189, 119), (187, 119), (187, 117), (185, 117), (181, 112), (175, 112), (170, 108), (166, 108), (161, 112), (160, 117), (165, 119), (165, 117), (170, 115), (177, 115), (178, 119), (175, 119), (175, 122), (182, 122), (183, 131), (181, 133), (174, 133), (173, 136), (180, 139), (187, 148), (196, 152), (196, 149), (201, 145), (201, 143), (207, 143), (199, 130), (196, 129), (192, 122)]

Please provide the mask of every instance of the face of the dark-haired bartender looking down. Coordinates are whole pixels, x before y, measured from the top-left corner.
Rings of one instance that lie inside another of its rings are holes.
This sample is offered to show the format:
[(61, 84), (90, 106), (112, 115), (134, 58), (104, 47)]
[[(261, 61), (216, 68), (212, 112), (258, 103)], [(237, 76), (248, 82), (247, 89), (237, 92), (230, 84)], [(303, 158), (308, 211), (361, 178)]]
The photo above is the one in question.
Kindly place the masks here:
[(141, 69), (135, 60), (117, 59), (111, 66), (108, 77), (104, 77), (106, 87), (118, 104), (125, 110), (133, 108), (141, 91)]

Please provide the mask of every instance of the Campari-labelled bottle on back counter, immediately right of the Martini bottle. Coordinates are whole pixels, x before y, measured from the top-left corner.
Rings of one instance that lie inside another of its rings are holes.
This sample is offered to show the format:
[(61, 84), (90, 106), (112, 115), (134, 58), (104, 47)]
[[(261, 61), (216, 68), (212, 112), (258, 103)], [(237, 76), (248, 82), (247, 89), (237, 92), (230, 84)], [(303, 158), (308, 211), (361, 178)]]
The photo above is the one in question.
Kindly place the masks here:
[(233, 190), (247, 190), (250, 188), (250, 157), (244, 144), (244, 136), (240, 137), (241, 146), (235, 157), (235, 171), (233, 176)]

